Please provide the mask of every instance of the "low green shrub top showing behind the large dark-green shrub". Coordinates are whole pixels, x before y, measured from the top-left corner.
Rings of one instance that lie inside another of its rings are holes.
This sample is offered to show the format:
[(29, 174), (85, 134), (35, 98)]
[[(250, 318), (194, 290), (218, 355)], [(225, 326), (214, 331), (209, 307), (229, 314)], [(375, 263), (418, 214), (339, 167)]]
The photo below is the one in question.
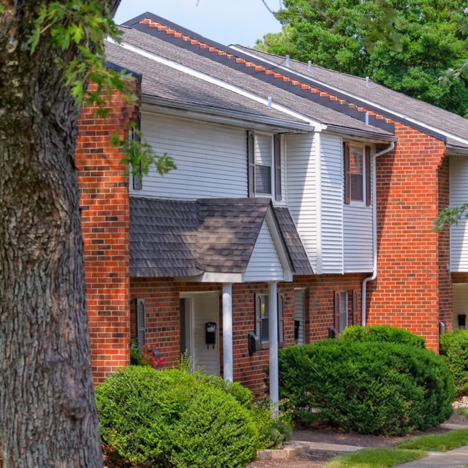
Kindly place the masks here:
[(377, 343), (400, 343), (425, 348), (426, 340), (422, 336), (415, 335), (408, 330), (390, 325), (374, 325), (372, 327), (361, 327), (354, 325), (347, 327), (340, 339), (353, 341), (373, 341)]

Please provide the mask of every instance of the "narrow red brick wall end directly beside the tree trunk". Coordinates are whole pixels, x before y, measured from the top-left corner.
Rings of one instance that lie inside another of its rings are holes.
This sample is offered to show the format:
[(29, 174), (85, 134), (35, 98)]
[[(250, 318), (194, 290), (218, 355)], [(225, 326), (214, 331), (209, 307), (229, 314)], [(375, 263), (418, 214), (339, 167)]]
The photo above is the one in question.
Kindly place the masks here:
[[(135, 85), (136, 86), (136, 85)], [(94, 85), (90, 85), (94, 87)], [(117, 92), (106, 121), (83, 106), (76, 165), (85, 243), (88, 321), (95, 382), (129, 362), (129, 189), (122, 154), (110, 144), (137, 112)]]

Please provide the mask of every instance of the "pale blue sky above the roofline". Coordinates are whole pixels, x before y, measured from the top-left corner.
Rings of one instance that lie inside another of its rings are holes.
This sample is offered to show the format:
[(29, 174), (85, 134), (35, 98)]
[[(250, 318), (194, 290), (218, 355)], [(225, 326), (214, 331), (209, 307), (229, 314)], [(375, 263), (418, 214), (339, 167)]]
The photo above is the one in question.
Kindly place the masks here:
[[(265, 3), (276, 11), (279, 1)], [(224, 45), (253, 46), (264, 34), (281, 30), (262, 0), (122, 0), (114, 20), (121, 24), (146, 11)]]

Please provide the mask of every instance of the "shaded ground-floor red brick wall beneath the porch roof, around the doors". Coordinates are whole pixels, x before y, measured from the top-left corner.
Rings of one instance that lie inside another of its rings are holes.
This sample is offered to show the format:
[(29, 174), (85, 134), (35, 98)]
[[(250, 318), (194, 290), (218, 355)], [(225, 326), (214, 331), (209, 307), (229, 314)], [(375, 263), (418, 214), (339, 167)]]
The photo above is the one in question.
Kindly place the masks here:
[[(357, 290), (363, 275), (324, 275), (302, 277), (294, 283), (280, 283), (278, 293), (284, 298), (285, 345), (294, 344), (294, 288), (306, 288), (306, 341), (312, 342), (328, 336), (328, 327), (333, 324), (333, 293)], [(222, 286), (219, 284), (179, 283), (172, 278), (132, 278), (132, 298), (145, 299), (146, 341), (157, 343), (164, 358), (163, 367), (176, 366), (180, 356), (180, 292), (219, 292), (219, 360), (222, 374)], [(249, 356), (247, 334), (254, 326), (255, 294), (268, 294), (268, 285), (263, 283), (233, 285), (233, 360), (234, 380), (249, 387), (256, 396), (264, 393), (269, 350), (264, 344), (262, 351)], [(359, 301), (360, 307), (360, 301)], [(350, 294), (351, 324), (351, 294)], [(359, 314), (360, 320), (360, 314)], [(134, 318), (132, 317), (132, 321)]]

